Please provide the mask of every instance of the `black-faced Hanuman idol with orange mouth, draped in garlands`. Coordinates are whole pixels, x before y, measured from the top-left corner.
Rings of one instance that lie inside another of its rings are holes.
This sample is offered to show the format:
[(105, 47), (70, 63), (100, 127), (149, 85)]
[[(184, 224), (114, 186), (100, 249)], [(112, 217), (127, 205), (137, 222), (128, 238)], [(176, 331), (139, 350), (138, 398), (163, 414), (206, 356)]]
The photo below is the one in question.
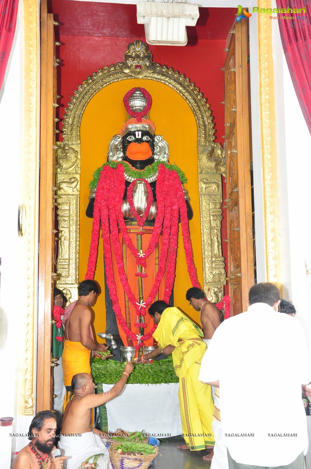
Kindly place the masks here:
[[(188, 272), (193, 264), (188, 219), (193, 216), (185, 174), (168, 162), (169, 148), (148, 118), (152, 105), (144, 88), (123, 98), (128, 114), (113, 136), (108, 161), (94, 173), (87, 216), (93, 217), (86, 279), (93, 279), (100, 229), (104, 242), (106, 332), (125, 346), (152, 345), (156, 325), (146, 317), (156, 300), (170, 303), (181, 224)], [(118, 328), (118, 329), (117, 329)]]

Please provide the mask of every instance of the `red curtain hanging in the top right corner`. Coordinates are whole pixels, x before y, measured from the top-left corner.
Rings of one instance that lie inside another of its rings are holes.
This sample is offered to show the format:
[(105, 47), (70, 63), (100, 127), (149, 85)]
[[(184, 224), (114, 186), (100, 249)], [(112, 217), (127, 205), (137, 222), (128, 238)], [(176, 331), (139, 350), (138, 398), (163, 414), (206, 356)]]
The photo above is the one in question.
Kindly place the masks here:
[[(283, 50), (304, 119), (311, 133), (311, 2), (310, 0), (276, 0)], [(302, 9), (305, 13), (291, 13), (288, 8)], [(282, 16), (293, 16), (292, 20)], [(300, 19), (302, 18), (302, 19)]]

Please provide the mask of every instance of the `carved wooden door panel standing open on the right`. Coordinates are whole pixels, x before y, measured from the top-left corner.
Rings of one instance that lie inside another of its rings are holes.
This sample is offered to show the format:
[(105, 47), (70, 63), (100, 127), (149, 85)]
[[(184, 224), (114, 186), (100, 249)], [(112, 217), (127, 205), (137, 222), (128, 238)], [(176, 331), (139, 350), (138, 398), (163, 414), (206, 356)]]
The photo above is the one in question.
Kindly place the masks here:
[(248, 291), (254, 283), (247, 26), (247, 20), (235, 23), (225, 61), (227, 280), (233, 315), (247, 309)]

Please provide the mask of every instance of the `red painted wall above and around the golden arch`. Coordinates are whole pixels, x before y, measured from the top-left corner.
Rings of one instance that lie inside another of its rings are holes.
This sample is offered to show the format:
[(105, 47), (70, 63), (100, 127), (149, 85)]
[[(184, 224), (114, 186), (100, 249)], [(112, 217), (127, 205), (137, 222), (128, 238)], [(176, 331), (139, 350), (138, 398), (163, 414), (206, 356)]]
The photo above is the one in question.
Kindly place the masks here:
[[(124, 52), (127, 45), (133, 42), (134, 39), (145, 41), (143, 26), (135, 24), (133, 20), (136, 6), (86, 3), (89, 8), (85, 6), (84, 2), (66, 0), (53, 0), (49, 5), (50, 12), (54, 14), (55, 19), (60, 23), (60, 26), (56, 29), (56, 38), (62, 43), (61, 46), (57, 47), (58, 58), (61, 59), (61, 64), (58, 67), (58, 94), (61, 95), (58, 101), (60, 119), (63, 118), (65, 107), (67, 102), (70, 101), (74, 90), (83, 80), (96, 72), (98, 68), (124, 61)], [(75, 5), (74, 10), (69, 11), (66, 9), (66, 6), (73, 8), (73, 5)], [(82, 8), (82, 6), (83, 11), (77, 11), (77, 8)], [(94, 12), (93, 7), (96, 8), (96, 12)], [(200, 8), (201, 10), (207, 9)], [(222, 34), (219, 31), (215, 32), (213, 30), (213, 33), (209, 31), (211, 28), (209, 28), (208, 21), (211, 22), (213, 15), (207, 15), (205, 12), (205, 16), (207, 16), (205, 20), (204, 15), (201, 15), (201, 23), (204, 20), (205, 24), (199, 24), (197, 29), (191, 28), (189, 43), (186, 46), (149, 46), (149, 48), (153, 53), (154, 61), (172, 67), (178, 70), (179, 73), (184, 73), (200, 88), (200, 91), (207, 98), (214, 116), (215, 142), (220, 142), (223, 146), (222, 136), (225, 133), (224, 107), (221, 101), (224, 99), (224, 73), (220, 69), (224, 65), (225, 52), (223, 49), (226, 47), (225, 39), (234, 20), (234, 15), (232, 15), (231, 21), (231, 12), (228, 13), (228, 10), (231, 9), (212, 8), (209, 10), (217, 10), (213, 13), (214, 15), (216, 13), (219, 15), (221, 10), (226, 10), (223, 21), (221, 21), (222, 15), (220, 15), (219, 28), (222, 28)], [(111, 24), (114, 22), (116, 11), (118, 12), (118, 21), (115, 30), (111, 32)], [(98, 31), (99, 23), (94, 20), (94, 30), (92, 30), (90, 27), (92, 16), (88, 15), (94, 15), (95, 13), (99, 15), (100, 12), (104, 13), (103, 17), (107, 28)], [(74, 14), (76, 18), (73, 17)], [(77, 23), (78, 18), (80, 18), (80, 21)], [(81, 18), (83, 18), (83, 21)], [(215, 21), (210, 24), (215, 28)], [(125, 27), (125, 25), (128, 27)], [(123, 34), (126, 32), (132, 35), (129, 37), (116, 37), (117, 34), (121, 35), (121, 31), (123, 31)], [(83, 36), (83, 34), (92, 33), (92, 36)], [(114, 37), (107, 37), (107, 34), (113, 34)], [(222, 35), (223, 39), (206, 38)], [(166, 104), (163, 103), (163, 106)], [(226, 238), (227, 226), (224, 218), (222, 221), (222, 239)], [(227, 249), (227, 243), (222, 242), (222, 252), (225, 258), (227, 258)]]

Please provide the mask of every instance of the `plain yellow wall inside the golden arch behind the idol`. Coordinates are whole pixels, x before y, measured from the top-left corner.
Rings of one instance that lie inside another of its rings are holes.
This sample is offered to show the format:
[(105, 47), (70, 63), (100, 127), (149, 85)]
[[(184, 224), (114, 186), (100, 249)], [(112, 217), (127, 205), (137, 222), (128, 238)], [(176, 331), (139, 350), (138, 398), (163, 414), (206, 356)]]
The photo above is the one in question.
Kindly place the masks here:
[[(203, 285), (202, 248), (200, 232), (200, 207), (198, 188), (197, 126), (190, 107), (180, 95), (163, 83), (152, 80), (122, 80), (99, 91), (89, 102), (81, 121), (81, 183), (80, 183), (80, 253), (79, 281), (84, 280), (89, 257), (92, 219), (85, 215), (88, 205), (89, 182), (98, 166), (107, 161), (108, 144), (119, 133), (125, 122), (126, 111), (123, 96), (133, 87), (148, 90), (153, 99), (150, 119), (156, 124), (156, 134), (162, 135), (169, 144), (171, 164), (177, 164), (185, 173), (193, 208), (190, 234), (194, 263), (198, 278)], [(95, 280), (103, 289), (94, 306), (96, 332), (105, 331), (104, 262), (103, 242), (100, 239)], [(181, 236), (178, 239), (178, 256), (174, 284), (174, 304), (200, 322), (200, 314), (185, 300), (185, 292), (191, 287), (185, 262)]]

